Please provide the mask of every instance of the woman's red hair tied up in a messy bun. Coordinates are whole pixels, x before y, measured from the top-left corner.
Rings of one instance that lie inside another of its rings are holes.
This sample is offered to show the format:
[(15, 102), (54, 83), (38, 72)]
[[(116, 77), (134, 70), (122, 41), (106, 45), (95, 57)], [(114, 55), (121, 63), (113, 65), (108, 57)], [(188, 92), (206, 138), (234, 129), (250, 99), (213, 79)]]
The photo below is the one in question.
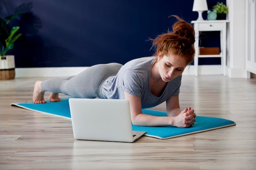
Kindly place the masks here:
[(176, 15), (177, 22), (173, 24), (173, 31), (158, 35), (153, 41), (151, 48), (156, 47), (154, 56), (158, 56), (159, 52), (162, 55), (166, 55), (169, 52), (179, 55), (180, 57), (186, 57), (187, 64), (191, 63), (194, 59), (195, 48), (195, 31), (191, 24), (185, 22)]

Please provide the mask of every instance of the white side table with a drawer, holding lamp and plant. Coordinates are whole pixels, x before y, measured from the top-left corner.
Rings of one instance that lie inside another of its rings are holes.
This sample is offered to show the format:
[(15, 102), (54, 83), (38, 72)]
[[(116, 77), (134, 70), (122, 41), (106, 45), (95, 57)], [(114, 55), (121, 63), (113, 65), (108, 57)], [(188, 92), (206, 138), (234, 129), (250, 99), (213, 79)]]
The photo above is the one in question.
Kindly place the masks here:
[[(198, 76), (198, 58), (201, 57), (221, 57), (221, 66), (223, 76), (226, 76), (226, 59), (227, 59), (227, 22), (229, 20), (203, 20), (192, 21), (195, 29), (195, 76)], [(200, 31), (220, 31), (220, 54), (219, 55), (199, 55), (199, 32)]]

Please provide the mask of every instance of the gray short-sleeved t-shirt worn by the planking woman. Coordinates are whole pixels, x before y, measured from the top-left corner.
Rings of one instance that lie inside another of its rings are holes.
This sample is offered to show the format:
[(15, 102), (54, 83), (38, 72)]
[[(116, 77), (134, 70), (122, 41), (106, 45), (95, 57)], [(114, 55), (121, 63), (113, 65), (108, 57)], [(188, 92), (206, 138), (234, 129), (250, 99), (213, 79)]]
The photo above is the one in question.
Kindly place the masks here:
[(124, 99), (124, 91), (141, 97), (142, 109), (155, 107), (171, 96), (180, 93), (182, 76), (169, 81), (160, 97), (154, 96), (149, 89), (149, 79), (156, 57), (142, 57), (127, 62), (116, 76), (109, 77), (103, 84), (102, 95), (106, 99)]

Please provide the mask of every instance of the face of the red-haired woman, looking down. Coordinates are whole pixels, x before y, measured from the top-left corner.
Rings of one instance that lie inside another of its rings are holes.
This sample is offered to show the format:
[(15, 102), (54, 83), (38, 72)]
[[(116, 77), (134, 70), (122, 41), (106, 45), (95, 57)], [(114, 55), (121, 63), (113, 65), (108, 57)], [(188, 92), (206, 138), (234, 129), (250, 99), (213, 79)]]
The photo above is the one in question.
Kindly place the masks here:
[(159, 62), (159, 74), (164, 82), (169, 82), (180, 76), (187, 65), (185, 57), (180, 57), (172, 52), (166, 55), (162, 55), (159, 52), (157, 59)]

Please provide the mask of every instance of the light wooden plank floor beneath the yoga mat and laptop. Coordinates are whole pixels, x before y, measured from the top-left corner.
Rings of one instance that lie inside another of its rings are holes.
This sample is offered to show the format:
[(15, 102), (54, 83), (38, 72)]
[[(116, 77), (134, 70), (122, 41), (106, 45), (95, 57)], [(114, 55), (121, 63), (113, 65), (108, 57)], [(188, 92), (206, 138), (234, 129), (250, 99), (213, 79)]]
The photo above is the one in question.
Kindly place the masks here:
[(256, 79), (183, 76), (181, 108), (236, 126), (166, 140), (143, 136), (135, 143), (75, 140), (71, 120), (10, 106), (31, 101), (38, 79), (45, 78), (0, 81), (1, 170), (256, 169)]

